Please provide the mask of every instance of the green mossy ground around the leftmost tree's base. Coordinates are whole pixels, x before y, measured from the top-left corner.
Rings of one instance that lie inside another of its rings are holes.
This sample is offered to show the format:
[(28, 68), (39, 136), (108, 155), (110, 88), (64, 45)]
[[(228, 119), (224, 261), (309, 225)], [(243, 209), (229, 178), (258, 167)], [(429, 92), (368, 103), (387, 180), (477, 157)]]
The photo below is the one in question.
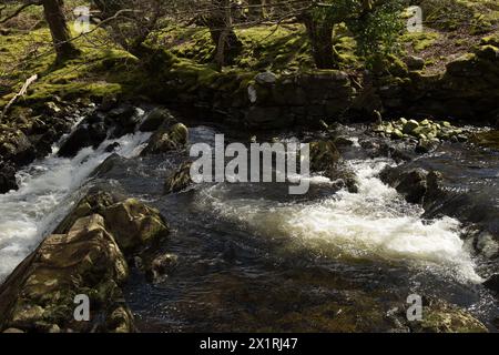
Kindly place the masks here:
[(143, 77), (138, 59), (118, 48), (102, 50), (90, 45), (104, 37), (105, 32), (98, 30), (88, 39), (77, 40), (82, 54), (60, 65), (54, 64), (51, 37), (45, 28), (0, 37), (0, 68), (3, 69), (0, 83), (10, 88), (10, 92), (0, 98), (0, 105), (7, 104), (26, 79), (34, 73), (39, 79), (29, 88), (21, 104), (47, 101), (53, 95), (99, 100), (109, 94), (126, 94), (136, 90), (136, 82), (143, 81), (143, 78), (138, 78)]

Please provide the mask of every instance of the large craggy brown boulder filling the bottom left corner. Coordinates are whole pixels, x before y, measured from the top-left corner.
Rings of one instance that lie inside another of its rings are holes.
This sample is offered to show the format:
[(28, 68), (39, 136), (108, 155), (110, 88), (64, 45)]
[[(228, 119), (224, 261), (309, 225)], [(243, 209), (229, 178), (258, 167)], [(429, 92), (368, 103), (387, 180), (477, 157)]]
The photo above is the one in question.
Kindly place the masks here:
[[(0, 287), (0, 331), (132, 332), (120, 285), (129, 268), (98, 214), (48, 236)], [(90, 300), (89, 322), (74, 317), (75, 296)]]

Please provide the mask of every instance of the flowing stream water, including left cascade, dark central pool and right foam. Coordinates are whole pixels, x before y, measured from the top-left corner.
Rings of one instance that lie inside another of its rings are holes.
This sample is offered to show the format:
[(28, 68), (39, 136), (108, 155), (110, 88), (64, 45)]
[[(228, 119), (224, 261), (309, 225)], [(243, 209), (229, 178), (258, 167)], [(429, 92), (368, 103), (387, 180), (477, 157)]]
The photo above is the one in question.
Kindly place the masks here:
[[(192, 143), (213, 144), (214, 130), (190, 131)], [(313, 176), (304, 196), (264, 183), (201, 184), (163, 195), (165, 176), (184, 158), (136, 158), (147, 138), (116, 140), (116, 153), (131, 159), (98, 178), (160, 209), (172, 226), (161, 251), (179, 255), (175, 272), (151, 285), (132, 268), (125, 287), (143, 329), (316, 331), (323, 328), (315, 322), (329, 317), (325, 311), (314, 318), (318, 304), (361, 318), (373, 307), (369, 300), (383, 313), (415, 291), (460, 304), (482, 320), (495, 316), (493, 300), (476, 290), (481, 280), (462, 226), (450, 217), (425, 220), (419, 206), (383, 184), (378, 173), (393, 161), (350, 159), (358, 193), (334, 193), (326, 178)], [(19, 173), (19, 191), (0, 195), (0, 281), (71, 209), (113, 142), (71, 160), (52, 154), (35, 162)], [(345, 308), (352, 303), (352, 311)], [(287, 321), (289, 315), (296, 320)], [(381, 331), (390, 326), (384, 322), (377, 323)], [(324, 326), (330, 331), (332, 324)]]

